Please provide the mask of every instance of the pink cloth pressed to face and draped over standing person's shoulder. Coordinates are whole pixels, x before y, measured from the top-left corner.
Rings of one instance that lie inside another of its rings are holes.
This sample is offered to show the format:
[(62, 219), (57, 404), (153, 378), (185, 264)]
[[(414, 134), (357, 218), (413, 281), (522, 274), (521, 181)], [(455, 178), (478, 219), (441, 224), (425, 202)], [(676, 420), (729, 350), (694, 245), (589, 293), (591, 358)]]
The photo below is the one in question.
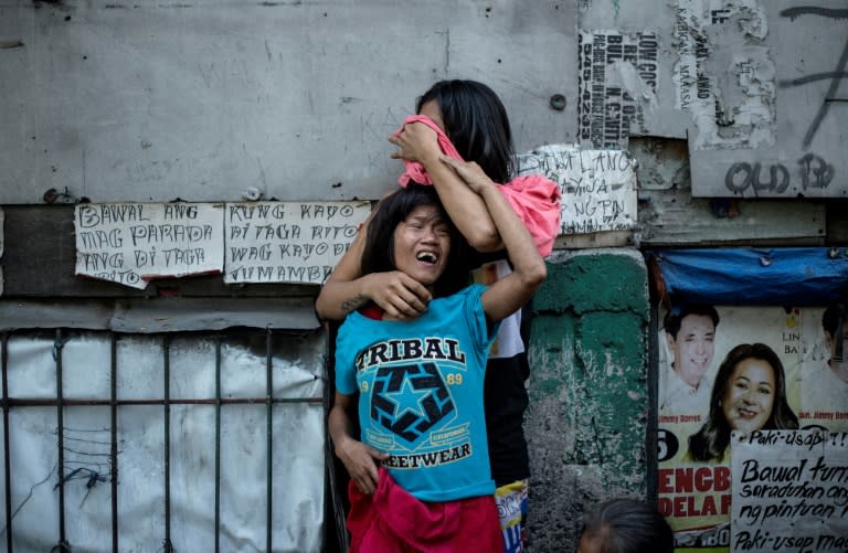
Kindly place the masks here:
[[(403, 125), (421, 123), (436, 131), (436, 140), (442, 153), (451, 156), (459, 161), (465, 161), (456, 147), (447, 138), (447, 135), (438, 128), (433, 119), (424, 115), (412, 115), (404, 119)], [(395, 130), (392, 136), (403, 132), (403, 126)], [(401, 187), (406, 187), (410, 181), (418, 184), (433, 184), (424, 166), (417, 161), (403, 160), (405, 168), (403, 174), (398, 178)], [(516, 211), (516, 214), (524, 223), (530, 235), (533, 237), (536, 247), (542, 257), (547, 257), (553, 249), (553, 241), (560, 234), (560, 187), (550, 179), (539, 174), (528, 174), (517, 177), (511, 181), (498, 187), (507, 199), (509, 204)]]

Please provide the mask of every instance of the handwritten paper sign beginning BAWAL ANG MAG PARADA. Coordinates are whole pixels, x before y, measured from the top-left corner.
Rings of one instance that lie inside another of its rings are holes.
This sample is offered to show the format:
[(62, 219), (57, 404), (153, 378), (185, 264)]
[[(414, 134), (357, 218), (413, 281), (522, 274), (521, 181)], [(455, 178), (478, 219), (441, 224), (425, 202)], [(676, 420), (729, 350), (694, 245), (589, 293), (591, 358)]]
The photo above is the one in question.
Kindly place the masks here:
[(220, 273), (222, 208), (220, 203), (78, 204), (76, 274), (144, 289), (157, 277)]

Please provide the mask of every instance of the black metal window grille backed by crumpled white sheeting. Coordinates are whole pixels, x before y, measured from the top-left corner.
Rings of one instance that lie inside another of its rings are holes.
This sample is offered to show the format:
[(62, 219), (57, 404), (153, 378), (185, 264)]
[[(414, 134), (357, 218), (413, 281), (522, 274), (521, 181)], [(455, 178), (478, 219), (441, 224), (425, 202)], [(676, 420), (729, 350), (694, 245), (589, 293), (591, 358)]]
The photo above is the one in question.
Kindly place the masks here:
[(319, 551), (324, 340), (3, 333), (6, 551)]

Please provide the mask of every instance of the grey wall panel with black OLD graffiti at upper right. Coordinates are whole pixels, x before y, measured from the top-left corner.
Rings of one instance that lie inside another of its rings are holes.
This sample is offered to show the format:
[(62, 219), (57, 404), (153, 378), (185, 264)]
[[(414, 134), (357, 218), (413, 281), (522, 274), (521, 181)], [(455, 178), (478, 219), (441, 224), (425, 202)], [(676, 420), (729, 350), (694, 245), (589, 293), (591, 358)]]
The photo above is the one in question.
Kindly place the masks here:
[[(677, 104), (703, 103), (692, 111), (693, 195), (845, 198), (848, 98), (840, 87), (848, 78), (848, 9), (789, 0), (734, 3), (736, 12), (711, 7), (700, 26), (687, 15), (690, 2), (678, 4)], [(695, 62), (683, 64), (690, 50)], [(740, 55), (749, 60), (739, 63)], [(695, 83), (690, 92), (685, 82)], [(754, 121), (746, 114), (756, 98), (768, 109), (757, 108), (762, 117)], [(716, 178), (717, 169), (723, 179)]]

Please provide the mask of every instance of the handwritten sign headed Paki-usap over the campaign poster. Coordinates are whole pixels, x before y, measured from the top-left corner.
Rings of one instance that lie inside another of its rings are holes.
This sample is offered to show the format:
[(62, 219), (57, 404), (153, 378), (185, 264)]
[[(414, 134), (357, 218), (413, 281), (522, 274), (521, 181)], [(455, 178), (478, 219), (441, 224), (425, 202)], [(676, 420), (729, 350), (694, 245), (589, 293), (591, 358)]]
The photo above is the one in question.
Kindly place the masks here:
[(731, 438), (731, 551), (848, 551), (848, 433)]

